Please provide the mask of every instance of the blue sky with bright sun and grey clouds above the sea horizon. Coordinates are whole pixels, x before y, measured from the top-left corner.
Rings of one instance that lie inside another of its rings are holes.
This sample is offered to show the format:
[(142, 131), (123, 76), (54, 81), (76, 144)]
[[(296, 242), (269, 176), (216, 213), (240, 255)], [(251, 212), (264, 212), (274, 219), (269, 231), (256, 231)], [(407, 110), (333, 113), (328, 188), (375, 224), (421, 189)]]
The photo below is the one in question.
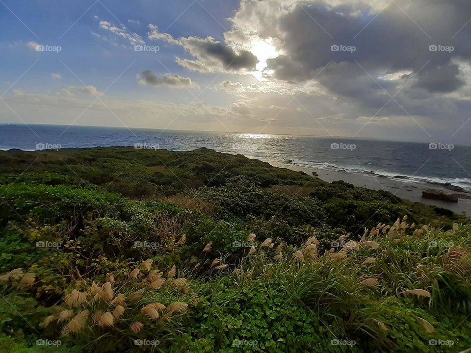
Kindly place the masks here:
[(469, 0), (0, 0), (0, 124), (470, 144)]

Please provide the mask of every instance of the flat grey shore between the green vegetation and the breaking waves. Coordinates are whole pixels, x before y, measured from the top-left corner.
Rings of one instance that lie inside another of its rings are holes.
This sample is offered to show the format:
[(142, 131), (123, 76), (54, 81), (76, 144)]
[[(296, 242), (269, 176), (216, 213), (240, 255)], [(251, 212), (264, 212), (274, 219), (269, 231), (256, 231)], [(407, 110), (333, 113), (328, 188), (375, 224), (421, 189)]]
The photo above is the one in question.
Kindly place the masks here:
[[(412, 202), (421, 202), (436, 207), (442, 207), (457, 214), (471, 216), (471, 193), (470, 190), (467, 189), (458, 192), (447, 189), (445, 185), (441, 183), (420, 182), (407, 178), (380, 176), (371, 172), (347, 172), (340, 169), (333, 170), (307, 167), (297, 164), (283, 163), (279, 160), (275, 160), (272, 158), (257, 159), (260, 159), (263, 162), (267, 162), (274, 167), (287, 168), (296, 172), (304, 172), (309, 176), (312, 176), (314, 172), (317, 174), (317, 177), (327, 182), (343, 180), (352, 185), (365, 187), (367, 189), (385, 190), (400, 199), (405, 199)], [(441, 190), (445, 193), (456, 194), (459, 197), (459, 201), (457, 203), (454, 203), (442, 200), (425, 199), (422, 197), (422, 191), (427, 189)]]

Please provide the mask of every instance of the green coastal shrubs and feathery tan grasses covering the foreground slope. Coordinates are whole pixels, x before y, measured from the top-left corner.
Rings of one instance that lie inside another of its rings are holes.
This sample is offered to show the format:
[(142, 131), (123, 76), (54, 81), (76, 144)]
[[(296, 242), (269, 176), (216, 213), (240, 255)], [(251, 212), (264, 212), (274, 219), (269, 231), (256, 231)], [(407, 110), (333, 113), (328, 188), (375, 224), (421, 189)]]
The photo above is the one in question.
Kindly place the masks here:
[(242, 155), (0, 151), (1, 352), (462, 352), (471, 223)]

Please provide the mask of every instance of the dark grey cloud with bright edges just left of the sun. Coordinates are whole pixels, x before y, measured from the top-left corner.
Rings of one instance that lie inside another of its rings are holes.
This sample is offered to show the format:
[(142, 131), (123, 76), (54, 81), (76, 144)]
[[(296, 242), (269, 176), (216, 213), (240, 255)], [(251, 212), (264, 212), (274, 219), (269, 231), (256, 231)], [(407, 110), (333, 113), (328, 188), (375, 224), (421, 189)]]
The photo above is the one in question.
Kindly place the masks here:
[(156, 25), (149, 25), (149, 39), (162, 40), (182, 47), (195, 60), (176, 58), (185, 69), (199, 72), (243, 72), (255, 70), (259, 60), (248, 50), (238, 50), (216, 41), (213, 37), (173, 38), (168, 33), (160, 33)]

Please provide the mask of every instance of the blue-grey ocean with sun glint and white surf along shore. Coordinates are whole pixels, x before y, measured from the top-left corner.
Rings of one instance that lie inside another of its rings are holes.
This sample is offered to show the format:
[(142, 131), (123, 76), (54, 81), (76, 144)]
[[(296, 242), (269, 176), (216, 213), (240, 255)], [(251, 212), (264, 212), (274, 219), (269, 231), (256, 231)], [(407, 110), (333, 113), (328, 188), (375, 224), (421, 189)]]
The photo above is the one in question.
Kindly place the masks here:
[(59, 125), (0, 125), (0, 149), (207, 147), (277, 165), (339, 170), (471, 188), (471, 147), (431, 143), (226, 132)]

